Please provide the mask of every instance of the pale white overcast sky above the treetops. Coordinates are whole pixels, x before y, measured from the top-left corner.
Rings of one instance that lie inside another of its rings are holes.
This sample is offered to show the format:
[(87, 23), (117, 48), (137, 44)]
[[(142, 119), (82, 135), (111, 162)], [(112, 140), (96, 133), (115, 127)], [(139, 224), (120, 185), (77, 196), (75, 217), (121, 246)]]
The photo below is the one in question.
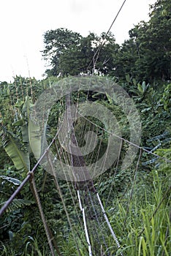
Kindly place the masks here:
[[(148, 20), (149, 4), (155, 0), (126, 0), (111, 31), (116, 42), (128, 39), (128, 31)], [(0, 81), (15, 75), (42, 79), (45, 62), (43, 34), (66, 28), (87, 36), (107, 31), (123, 0), (1, 0)]]

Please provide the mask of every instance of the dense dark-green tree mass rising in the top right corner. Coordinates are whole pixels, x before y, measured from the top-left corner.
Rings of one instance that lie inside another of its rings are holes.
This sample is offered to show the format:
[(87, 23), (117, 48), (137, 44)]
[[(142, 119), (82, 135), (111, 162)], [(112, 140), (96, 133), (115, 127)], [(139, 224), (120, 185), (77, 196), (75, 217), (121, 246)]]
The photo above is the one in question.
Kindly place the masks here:
[(171, 2), (158, 0), (151, 6), (150, 20), (141, 21), (129, 31), (115, 59), (114, 75), (129, 73), (138, 80), (170, 80)]

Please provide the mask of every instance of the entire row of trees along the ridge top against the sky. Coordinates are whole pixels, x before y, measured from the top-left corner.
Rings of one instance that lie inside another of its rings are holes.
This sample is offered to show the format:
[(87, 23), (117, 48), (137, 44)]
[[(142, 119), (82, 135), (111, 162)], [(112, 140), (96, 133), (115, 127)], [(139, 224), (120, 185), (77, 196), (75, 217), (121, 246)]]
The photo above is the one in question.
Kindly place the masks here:
[(150, 20), (134, 26), (121, 46), (112, 33), (82, 37), (68, 29), (45, 32), (42, 55), (50, 65), (47, 75), (91, 74), (95, 67), (99, 74), (119, 80), (128, 74), (147, 83), (170, 80), (171, 3), (158, 0), (150, 8)]

